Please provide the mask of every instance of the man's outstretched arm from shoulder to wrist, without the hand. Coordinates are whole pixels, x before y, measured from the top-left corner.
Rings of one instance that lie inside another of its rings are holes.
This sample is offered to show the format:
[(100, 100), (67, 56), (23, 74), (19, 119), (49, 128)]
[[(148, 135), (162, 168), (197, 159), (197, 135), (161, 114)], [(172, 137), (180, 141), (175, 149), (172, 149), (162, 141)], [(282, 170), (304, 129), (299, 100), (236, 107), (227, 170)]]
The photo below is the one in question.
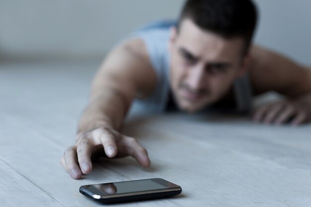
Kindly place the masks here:
[(108, 55), (93, 80), (78, 131), (102, 124), (118, 130), (133, 99), (152, 92), (156, 75), (146, 53), (142, 41), (134, 40)]

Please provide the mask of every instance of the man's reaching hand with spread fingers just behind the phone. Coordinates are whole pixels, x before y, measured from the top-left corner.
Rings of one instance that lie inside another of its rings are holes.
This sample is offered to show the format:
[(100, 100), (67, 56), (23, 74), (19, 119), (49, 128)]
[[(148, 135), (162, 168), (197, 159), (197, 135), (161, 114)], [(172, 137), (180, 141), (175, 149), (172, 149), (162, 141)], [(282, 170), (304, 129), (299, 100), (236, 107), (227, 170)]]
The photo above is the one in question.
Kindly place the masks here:
[(109, 128), (96, 128), (77, 135), (75, 145), (69, 147), (61, 164), (74, 179), (92, 171), (94, 157), (134, 157), (144, 167), (150, 166), (147, 150), (136, 139)]

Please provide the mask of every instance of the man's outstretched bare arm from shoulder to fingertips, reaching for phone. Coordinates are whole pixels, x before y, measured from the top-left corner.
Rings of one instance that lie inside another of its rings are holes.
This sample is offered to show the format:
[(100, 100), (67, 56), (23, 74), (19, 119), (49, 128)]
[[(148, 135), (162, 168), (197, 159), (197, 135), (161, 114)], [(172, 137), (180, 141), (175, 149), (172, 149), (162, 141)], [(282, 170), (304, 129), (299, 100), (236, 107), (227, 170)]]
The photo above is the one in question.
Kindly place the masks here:
[(91, 158), (96, 155), (130, 155), (142, 166), (150, 165), (147, 150), (118, 130), (133, 99), (148, 96), (155, 86), (156, 74), (142, 40), (127, 42), (107, 56), (94, 77), (89, 103), (80, 117), (76, 144), (61, 159), (72, 178), (90, 173)]

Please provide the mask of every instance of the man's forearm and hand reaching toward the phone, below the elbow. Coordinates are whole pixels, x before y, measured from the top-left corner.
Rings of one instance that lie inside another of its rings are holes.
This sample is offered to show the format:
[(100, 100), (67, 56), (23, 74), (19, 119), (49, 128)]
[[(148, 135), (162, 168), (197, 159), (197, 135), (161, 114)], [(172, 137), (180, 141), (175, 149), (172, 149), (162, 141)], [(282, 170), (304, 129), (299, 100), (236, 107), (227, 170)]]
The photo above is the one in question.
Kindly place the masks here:
[(129, 107), (128, 102), (123, 101), (129, 100), (128, 94), (123, 93), (126, 96), (121, 96), (122, 93), (106, 87), (99, 91), (91, 95), (82, 113), (76, 143), (67, 148), (61, 159), (63, 167), (74, 179), (90, 173), (92, 159), (103, 155), (109, 158), (130, 155), (142, 166), (150, 166), (147, 150), (133, 137), (116, 130)]

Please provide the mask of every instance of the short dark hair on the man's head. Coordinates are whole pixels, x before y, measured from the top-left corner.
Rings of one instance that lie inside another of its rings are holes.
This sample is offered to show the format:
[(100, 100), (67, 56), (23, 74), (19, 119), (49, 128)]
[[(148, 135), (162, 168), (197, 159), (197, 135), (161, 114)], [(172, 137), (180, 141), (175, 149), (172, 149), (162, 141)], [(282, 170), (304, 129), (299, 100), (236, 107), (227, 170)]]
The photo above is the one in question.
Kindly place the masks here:
[(185, 18), (224, 38), (242, 37), (246, 52), (256, 28), (257, 9), (251, 0), (187, 0), (177, 29)]

